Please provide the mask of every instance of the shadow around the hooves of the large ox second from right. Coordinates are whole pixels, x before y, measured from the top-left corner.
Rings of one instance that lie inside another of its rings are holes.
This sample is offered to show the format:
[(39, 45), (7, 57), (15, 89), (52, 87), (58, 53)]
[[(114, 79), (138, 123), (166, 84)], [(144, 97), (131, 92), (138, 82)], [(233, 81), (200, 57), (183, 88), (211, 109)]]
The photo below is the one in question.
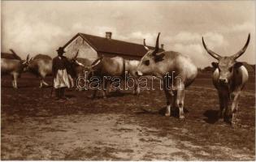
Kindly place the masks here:
[[(141, 112), (137, 112), (137, 114), (157, 114), (161, 116), (165, 116), (166, 107), (162, 107), (158, 110), (151, 110), (151, 109), (141, 109)], [(184, 113), (189, 113), (189, 110), (184, 108)], [(171, 108), (171, 117), (179, 118), (179, 108)]]

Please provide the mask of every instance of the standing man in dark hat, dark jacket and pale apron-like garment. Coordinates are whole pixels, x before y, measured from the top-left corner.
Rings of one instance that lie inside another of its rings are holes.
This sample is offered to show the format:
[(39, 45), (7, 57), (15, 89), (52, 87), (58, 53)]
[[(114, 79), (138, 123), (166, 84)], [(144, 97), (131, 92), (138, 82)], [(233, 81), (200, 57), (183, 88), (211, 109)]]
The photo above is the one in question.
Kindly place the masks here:
[(66, 57), (63, 56), (65, 53), (62, 47), (57, 50), (58, 56), (53, 59), (52, 71), (54, 75), (54, 88), (57, 100), (67, 98), (64, 96), (65, 88), (69, 88), (72, 85), (72, 80), (68, 74), (69, 62)]

